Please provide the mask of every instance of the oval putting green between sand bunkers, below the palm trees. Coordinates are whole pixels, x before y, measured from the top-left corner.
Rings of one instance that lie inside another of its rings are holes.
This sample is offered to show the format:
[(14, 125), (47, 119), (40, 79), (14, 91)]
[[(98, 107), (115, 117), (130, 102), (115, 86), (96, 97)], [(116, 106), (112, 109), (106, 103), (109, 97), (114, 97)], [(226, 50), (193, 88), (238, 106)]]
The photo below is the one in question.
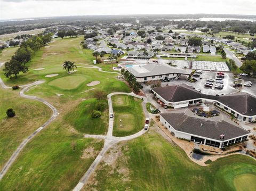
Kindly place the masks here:
[(85, 80), (86, 78), (83, 76), (66, 76), (52, 80), (48, 84), (50, 86), (55, 86), (61, 89), (75, 89)]

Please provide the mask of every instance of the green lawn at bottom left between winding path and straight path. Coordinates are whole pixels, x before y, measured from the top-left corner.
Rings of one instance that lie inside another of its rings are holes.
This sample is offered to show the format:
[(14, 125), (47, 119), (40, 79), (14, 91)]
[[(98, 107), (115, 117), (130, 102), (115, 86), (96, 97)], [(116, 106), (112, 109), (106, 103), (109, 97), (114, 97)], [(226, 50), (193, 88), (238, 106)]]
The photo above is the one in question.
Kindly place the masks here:
[(71, 190), (103, 146), (85, 139), (65, 121), (36, 136), (0, 181), (0, 190)]

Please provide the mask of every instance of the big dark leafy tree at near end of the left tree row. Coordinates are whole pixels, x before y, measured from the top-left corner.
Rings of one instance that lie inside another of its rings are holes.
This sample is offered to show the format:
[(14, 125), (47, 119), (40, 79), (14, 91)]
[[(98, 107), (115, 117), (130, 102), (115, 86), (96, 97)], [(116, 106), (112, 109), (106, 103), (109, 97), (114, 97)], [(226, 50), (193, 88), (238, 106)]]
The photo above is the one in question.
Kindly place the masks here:
[(20, 72), (26, 73), (28, 68), (25, 66), (25, 63), (11, 59), (9, 62), (5, 62), (3, 71), (6, 78), (12, 77), (13, 75), (17, 78)]

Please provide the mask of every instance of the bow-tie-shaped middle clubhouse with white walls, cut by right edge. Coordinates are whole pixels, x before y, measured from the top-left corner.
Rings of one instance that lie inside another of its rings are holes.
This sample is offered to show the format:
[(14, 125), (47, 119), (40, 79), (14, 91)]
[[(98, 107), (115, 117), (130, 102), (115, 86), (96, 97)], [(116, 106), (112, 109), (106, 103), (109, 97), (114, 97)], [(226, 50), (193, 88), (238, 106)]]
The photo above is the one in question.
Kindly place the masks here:
[(156, 87), (153, 94), (167, 106), (174, 109), (211, 102), (220, 109), (234, 115), (243, 122), (256, 120), (256, 97), (247, 93), (234, 93), (223, 96), (206, 95), (187, 86)]

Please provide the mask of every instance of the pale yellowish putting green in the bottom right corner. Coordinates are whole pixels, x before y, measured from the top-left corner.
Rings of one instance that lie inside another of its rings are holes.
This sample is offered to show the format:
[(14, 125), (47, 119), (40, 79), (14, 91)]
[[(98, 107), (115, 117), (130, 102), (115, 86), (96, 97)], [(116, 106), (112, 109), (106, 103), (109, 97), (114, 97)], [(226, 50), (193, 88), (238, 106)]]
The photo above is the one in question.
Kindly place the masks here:
[(253, 191), (256, 188), (256, 175), (239, 175), (234, 179), (234, 185), (237, 191)]

